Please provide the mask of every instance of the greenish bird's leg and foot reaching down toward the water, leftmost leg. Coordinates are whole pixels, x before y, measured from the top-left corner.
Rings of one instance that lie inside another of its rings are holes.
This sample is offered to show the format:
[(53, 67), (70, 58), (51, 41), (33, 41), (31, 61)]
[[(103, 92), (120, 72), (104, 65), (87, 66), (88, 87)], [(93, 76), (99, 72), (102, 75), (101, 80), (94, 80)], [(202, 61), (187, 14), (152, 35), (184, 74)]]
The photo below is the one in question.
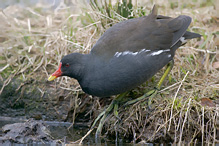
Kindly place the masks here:
[(98, 115), (98, 117), (95, 119), (94, 123), (91, 126), (91, 129), (93, 129), (97, 123), (97, 121), (100, 120), (97, 131), (96, 131), (96, 135), (95, 137), (98, 138), (101, 134), (103, 125), (105, 123), (106, 118), (109, 116), (109, 114), (113, 111), (114, 115), (118, 118), (118, 104), (119, 102), (122, 100), (122, 98), (127, 94), (128, 92), (122, 93), (120, 95), (118, 95), (115, 99), (113, 99), (113, 101), (111, 102), (111, 104), (109, 105), (109, 107), (107, 109), (105, 109), (102, 113), (100, 113)]

